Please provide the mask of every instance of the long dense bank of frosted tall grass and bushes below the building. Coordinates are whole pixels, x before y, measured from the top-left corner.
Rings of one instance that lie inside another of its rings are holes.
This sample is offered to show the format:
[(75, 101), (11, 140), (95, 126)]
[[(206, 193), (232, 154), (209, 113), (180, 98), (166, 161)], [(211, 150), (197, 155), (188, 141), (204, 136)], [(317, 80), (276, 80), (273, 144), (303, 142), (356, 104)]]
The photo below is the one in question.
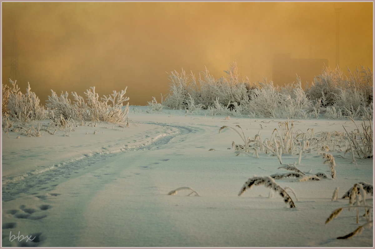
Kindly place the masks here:
[(172, 71), (169, 93), (162, 104), (177, 110), (191, 110), (198, 105), (210, 110), (212, 116), (285, 119), (348, 116), (358, 120), (373, 115), (373, 74), (363, 66), (361, 71), (349, 70), (349, 77), (339, 68), (324, 67), (305, 90), (298, 76), (296, 82), (281, 87), (267, 79), (252, 84), (247, 77), (240, 79), (235, 62), (224, 72), (225, 76), (214, 79), (205, 68), (196, 80), (192, 72), (187, 75), (184, 70)]

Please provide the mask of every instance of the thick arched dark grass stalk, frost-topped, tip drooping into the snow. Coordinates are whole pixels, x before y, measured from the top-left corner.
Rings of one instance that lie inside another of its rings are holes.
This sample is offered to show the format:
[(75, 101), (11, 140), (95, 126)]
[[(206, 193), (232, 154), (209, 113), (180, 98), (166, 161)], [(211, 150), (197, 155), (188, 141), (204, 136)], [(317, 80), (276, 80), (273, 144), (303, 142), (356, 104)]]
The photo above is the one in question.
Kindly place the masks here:
[(254, 176), (253, 178), (249, 178), (248, 181), (242, 186), (240, 193), (238, 194), (241, 196), (248, 188), (252, 188), (253, 185), (265, 185), (267, 188), (271, 188), (274, 191), (278, 192), (281, 197), (284, 198), (284, 202), (288, 203), (288, 205), (293, 208), (296, 207), (294, 205), (293, 200), (290, 198), (289, 194), (278, 184), (276, 184), (275, 180), (270, 176), (262, 177), (262, 176)]

